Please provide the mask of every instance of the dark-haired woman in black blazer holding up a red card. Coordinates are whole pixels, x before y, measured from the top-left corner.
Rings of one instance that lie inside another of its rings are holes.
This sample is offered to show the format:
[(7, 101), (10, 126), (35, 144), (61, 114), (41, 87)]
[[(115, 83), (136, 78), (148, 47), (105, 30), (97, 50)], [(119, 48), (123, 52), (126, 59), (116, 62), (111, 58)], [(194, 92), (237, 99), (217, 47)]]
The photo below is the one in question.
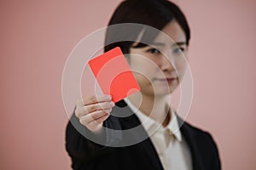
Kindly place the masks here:
[[(182, 11), (166, 0), (128, 0), (119, 4), (108, 26), (121, 23), (140, 25), (109, 28), (105, 51), (120, 47), (127, 54), (141, 92), (118, 102), (119, 107), (109, 95), (79, 99), (67, 125), (73, 169), (220, 169), (211, 135), (183, 122), (166, 105), (166, 96), (178, 87), (186, 69), (182, 56), (188, 52), (190, 31)], [(127, 37), (134, 41), (116, 41)], [(142, 128), (125, 136), (125, 130), (142, 123)], [(101, 139), (104, 144), (96, 142)]]

